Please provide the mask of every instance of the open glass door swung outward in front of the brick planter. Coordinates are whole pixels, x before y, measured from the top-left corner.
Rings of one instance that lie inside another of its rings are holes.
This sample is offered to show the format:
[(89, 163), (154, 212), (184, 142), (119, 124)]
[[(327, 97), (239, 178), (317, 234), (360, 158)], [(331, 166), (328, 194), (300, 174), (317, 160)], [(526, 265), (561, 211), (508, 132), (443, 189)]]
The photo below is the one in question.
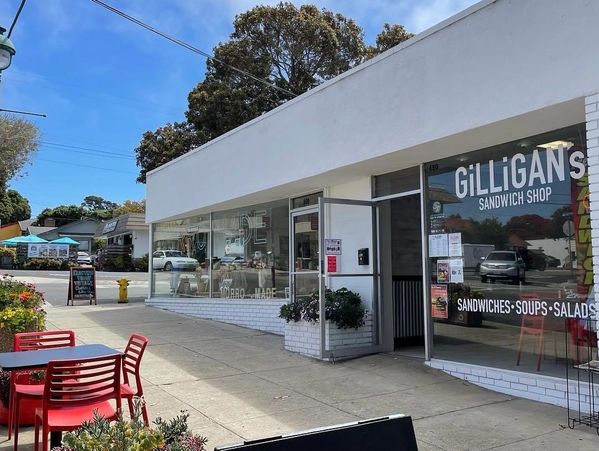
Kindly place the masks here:
[(323, 256), (320, 318), (325, 315), (327, 302), (323, 299), (327, 293), (332, 295), (333, 302), (346, 302), (355, 293), (365, 309), (363, 323), (358, 328), (339, 328), (331, 321), (320, 322), (321, 357), (335, 359), (381, 352), (378, 207), (369, 201), (321, 198), (319, 213)]

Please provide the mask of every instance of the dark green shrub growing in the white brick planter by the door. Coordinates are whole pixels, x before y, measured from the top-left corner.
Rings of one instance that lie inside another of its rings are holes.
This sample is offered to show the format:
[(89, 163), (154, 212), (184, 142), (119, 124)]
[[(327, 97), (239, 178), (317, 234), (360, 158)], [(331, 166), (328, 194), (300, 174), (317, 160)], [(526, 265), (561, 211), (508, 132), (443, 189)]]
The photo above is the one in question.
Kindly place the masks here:
[[(297, 298), (281, 306), (279, 317), (285, 321), (317, 322), (320, 317), (319, 294), (314, 291), (310, 296)], [(366, 309), (358, 293), (340, 288), (325, 291), (325, 318), (340, 329), (357, 329), (364, 325)]]

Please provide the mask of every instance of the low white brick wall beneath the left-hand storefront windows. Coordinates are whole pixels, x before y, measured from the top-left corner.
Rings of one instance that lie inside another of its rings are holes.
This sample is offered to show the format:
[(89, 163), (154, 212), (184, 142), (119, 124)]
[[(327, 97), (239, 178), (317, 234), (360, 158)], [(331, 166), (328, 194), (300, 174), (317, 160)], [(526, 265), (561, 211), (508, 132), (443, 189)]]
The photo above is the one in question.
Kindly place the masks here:
[(286, 299), (151, 298), (146, 305), (283, 335), (285, 320), (279, 318), (279, 310), (286, 302)]

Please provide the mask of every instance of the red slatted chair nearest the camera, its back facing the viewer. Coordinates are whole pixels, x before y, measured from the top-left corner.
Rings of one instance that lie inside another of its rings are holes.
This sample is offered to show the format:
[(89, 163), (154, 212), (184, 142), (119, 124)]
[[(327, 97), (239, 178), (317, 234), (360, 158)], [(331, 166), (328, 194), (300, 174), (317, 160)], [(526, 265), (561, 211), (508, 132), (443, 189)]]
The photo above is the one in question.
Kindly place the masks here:
[[(73, 373), (77, 379), (73, 379)], [(115, 420), (121, 409), (121, 356), (48, 363), (43, 407), (35, 412), (35, 451), (39, 450), (42, 428), (43, 451), (48, 451), (48, 434), (72, 431), (94, 418), (94, 411)], [(111, 401), (114, 401), (114, 406)]]

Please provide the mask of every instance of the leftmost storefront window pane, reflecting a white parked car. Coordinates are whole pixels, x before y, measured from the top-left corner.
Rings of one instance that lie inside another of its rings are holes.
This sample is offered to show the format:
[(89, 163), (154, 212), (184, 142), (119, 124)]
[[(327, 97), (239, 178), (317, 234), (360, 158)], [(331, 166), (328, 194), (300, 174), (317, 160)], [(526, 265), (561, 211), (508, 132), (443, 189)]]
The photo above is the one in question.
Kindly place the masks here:
[(154, 224), (153, 296), (206, 297), (210, 289), (210, 217)]

